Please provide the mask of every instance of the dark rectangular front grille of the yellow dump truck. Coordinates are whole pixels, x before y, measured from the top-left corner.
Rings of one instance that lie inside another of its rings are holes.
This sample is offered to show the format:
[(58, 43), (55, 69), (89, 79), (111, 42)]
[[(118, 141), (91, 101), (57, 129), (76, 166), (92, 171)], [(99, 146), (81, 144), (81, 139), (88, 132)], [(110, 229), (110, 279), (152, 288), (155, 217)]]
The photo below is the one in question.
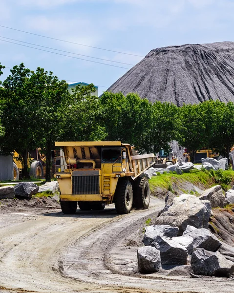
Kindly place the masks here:
[(72, 176), (72, 194), (99, 193), (99, 176)]

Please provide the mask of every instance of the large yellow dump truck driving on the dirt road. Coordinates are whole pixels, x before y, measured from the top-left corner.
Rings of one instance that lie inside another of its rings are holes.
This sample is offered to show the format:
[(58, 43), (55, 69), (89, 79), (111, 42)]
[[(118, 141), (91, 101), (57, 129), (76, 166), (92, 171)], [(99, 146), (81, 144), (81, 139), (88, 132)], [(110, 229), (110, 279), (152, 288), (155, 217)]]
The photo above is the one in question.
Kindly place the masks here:
[(148, 209), (149, 182), (144, 176), (154, 154), (132, 155), (131, 146), (116, 142), (56, 142), (63, 156), (55, 157), (55, 174), (64, 213), (104, 209), (115, 204), (117, 213)]

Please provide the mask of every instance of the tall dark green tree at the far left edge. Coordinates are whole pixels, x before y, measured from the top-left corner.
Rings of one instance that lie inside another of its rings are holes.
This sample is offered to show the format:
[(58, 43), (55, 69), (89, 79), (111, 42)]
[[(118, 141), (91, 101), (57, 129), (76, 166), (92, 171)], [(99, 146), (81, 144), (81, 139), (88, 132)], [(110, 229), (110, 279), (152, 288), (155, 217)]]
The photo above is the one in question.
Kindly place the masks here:
[(29, 178), (28, 151), (37, 146), (35, 129), (38, 127), (34, 119), (35, 105), (33, 87), (29, 83), (30, 74), (30, 70), (23, 63), (14, 66), (11, 74), (2, 83), (0, 95), (1, 121), (5, 127), (0, 146), (6, 153), (16, 150), (20, 154), (22, 176), (25, 178)]

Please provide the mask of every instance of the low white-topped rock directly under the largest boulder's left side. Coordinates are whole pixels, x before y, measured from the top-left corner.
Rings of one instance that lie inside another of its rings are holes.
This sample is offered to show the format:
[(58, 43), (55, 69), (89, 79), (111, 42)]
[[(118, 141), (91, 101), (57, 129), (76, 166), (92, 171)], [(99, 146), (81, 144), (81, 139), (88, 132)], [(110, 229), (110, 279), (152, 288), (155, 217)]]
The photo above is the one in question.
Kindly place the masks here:
[(177, 236), (179, 228), (169, 225), (151, 225), (146, 227), (143, 242), (146, 246), (151, 245), (158, 235), (166, 237)]

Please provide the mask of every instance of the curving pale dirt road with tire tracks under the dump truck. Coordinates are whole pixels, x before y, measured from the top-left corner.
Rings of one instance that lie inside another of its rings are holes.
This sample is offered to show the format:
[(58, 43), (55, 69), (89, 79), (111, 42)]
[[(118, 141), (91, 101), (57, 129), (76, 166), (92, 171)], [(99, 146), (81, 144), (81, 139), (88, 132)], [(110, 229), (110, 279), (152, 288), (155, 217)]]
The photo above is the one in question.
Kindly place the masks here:
[(128, 215), (112, 206), (71, 216), (1, 214), (0, 292), (234, 292), (232, 279), (137, 273), (142, 227), (162, 206), (154, 200), (150, 209)]

